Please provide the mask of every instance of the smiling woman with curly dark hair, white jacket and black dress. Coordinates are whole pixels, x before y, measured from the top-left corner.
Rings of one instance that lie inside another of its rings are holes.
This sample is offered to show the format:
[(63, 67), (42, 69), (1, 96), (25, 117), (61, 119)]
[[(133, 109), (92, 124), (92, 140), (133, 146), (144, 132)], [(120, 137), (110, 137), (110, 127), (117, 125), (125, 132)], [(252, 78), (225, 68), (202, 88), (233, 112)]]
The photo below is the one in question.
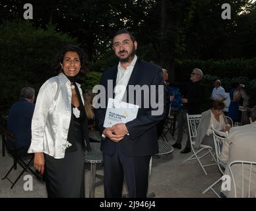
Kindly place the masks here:
[(90, 150), (79, 72), (86, 55), (68, 45), (53, 64), (57, 76), (40, 88), (32, 118), (34, 167), (44, 173), (48, 197), (84, 197), (84, 150)]

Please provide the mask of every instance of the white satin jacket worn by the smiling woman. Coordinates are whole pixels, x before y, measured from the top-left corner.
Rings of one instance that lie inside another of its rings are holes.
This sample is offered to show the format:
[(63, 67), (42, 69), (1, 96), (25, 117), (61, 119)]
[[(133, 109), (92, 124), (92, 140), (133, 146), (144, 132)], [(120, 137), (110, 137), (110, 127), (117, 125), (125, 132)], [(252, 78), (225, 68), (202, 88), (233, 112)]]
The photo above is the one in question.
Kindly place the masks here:
[[(77, 86), (82, 98), (80, 84)], [(71, 82), (63, 73), (59, 73), (46, 80), (39, 90), (28, 153), (44, 152), (53, 158), (64, 158), (65, 149), (70, 144), (67, 142), (70, 121)]]

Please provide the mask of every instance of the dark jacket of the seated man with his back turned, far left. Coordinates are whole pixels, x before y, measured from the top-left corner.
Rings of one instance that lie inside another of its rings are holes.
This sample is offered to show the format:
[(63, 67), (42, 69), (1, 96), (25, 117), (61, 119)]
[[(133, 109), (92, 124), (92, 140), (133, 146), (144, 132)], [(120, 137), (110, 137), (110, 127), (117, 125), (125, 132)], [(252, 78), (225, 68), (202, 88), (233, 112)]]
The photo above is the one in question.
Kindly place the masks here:
[[(31, 121), (35, 104), (25, 99), (13, 104), (7, 119), (7, 129), (15, 136), (16, 148), (28, 146), (31, 143)], [(13, 146), (10, 146), (13, 148)]]

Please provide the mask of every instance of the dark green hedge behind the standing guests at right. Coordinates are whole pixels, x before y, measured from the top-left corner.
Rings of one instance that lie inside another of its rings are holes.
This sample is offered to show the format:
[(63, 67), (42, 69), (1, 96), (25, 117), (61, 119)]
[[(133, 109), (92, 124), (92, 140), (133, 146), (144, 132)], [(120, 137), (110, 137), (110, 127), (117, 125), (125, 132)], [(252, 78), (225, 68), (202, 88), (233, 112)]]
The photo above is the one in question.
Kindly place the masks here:
[(202, 83), (206, 88), (207, 106), (209, 105), (208, 100), (216, 79), (222, 81), (222, 86), (226, 92), (230, 91), (234, 82), (245, 84), (245, 88), (249, 96), (251, 96), (250, 104), (256, 105), (256, 57), (253, 59), (229, 59), (226, 61), (184, 59), (177, 61), (177, 63), (177, 69), (183, 75), (190, 75), (191, 71), (196, 67), (203, 71)]

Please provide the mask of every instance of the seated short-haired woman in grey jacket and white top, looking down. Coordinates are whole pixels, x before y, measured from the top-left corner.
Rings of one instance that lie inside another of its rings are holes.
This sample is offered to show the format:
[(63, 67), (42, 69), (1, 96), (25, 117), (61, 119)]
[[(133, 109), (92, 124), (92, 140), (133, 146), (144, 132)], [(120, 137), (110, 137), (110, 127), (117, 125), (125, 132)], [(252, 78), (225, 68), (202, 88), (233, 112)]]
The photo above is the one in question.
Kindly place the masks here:
[(205, 144), (214, 148), (212, 125), (218, 131), (230, 131), (230, 125), (226, 122), (223, 114), (224, 107), (225, 104), (222, 100), (212, 100), (211, 108), (202, 113), (195, 138), (195, 147), (199, 148), (200, 144)]

